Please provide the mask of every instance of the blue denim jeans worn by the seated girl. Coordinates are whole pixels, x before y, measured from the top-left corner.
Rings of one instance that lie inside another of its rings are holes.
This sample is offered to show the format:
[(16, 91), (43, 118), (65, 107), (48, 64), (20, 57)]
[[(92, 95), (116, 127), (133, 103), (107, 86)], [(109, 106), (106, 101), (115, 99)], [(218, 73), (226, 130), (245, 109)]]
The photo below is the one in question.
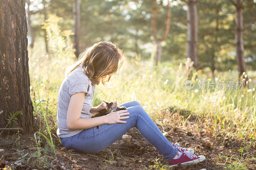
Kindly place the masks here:
[(139, 102), (129, 101), (118, 106), (125, 106), (130, 113), (129, 118), (122, 119), (126, 123), (102, 124), (99, 128), (95, 126), (84, 129), (71, 137), (60, 137), (62, 146), (76, 152), (94, 154), (116, 142), (129, 129), (136, 127), (168, 161), (174, 158), (178, 150), (164, 137)]

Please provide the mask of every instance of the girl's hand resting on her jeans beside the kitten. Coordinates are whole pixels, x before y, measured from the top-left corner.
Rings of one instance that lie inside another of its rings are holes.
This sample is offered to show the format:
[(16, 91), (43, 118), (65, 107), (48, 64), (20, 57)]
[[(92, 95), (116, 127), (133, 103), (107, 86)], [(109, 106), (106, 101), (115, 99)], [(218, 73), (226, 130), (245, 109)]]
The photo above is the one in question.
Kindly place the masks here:
[(126, 121), (121, 121), (121, 119), (127, 119), (130, 116), (124, 116), (129, 115), (130, 113), (127, 112), (127, 110), (119, 110), (117, 112), (110, 112), (108, 115), (105, 115), (106, 123), (107, 124), (114, 124), (114, 123), (126, 123)]

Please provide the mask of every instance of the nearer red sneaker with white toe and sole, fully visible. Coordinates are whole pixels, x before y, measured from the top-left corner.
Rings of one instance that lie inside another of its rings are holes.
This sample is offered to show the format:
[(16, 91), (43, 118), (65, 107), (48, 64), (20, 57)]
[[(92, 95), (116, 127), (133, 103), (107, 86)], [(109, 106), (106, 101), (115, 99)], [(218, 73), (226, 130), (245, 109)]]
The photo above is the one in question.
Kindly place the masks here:
[(203, 155), (196, 156), (194, 153), (190, 153), (188, 151), (184, 151), (179, 159), (172, 159), (169, 161), (169, 165), (177, 166), (178, 164), (181, 165), (190, 165), (201, 162), (205, 160)]

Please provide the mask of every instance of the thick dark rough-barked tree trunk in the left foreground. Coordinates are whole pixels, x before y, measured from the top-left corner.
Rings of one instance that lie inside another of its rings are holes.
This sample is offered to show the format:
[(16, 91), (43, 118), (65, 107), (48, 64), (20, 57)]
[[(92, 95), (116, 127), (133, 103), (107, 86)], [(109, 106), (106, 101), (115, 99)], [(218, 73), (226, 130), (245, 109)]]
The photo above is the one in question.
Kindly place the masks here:
[(0, 128), (7, 125), (8, 115), (21, 111), (17, 126), (32, 131), (25, 0), (1, 0), (0, 16)]

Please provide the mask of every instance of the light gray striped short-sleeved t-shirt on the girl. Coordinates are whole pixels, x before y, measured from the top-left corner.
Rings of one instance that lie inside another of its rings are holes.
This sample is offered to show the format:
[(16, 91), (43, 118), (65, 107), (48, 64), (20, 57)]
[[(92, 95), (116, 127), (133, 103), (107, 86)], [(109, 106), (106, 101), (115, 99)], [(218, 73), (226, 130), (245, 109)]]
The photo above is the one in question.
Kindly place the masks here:
[[(90, 109), (92, 108), (92, 99), (95, 85), (82, 71), (80, 65), (66, 76), (60, 85), (58, 108), (57, 108), (57, 135), (58, 137), (71, 137), (81, 130), (69, 130), (67, 127), (67, 113), (70, 97), (77, 92), (85, 92), (84, 105), (80, 118), (88, 119), (92, 117)], [(71, 113), (72, 114), (72, 113)]]

